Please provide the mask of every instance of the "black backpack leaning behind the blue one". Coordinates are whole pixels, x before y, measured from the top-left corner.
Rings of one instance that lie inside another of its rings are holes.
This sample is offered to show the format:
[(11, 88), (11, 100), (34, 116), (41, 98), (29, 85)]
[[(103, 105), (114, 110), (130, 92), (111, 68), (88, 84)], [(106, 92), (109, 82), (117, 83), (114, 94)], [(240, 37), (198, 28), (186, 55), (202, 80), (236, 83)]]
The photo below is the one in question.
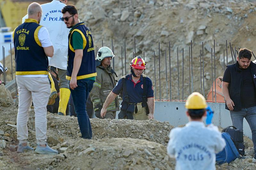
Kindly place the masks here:
[[(230, 127), (233, 127), (231, 129)], [(242, 131), (237, 129), (235, 126), (228, 126), (222, 130), (222, 132), (227, 132), (230, 136), (232, 141), (234, 142), (237, 151), (240, 155), (244, 156), (244, 134)]]

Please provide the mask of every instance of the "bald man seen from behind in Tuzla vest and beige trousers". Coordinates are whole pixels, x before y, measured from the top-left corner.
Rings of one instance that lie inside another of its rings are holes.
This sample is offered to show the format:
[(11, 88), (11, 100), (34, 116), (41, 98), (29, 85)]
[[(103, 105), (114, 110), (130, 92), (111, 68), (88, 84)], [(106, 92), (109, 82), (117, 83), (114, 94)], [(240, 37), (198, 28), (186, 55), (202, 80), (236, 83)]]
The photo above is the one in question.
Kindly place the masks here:
[(53, 55), (53, 46), (47, 29), (41, 25), (42, 8), (38, 3), (28, 6), (28, 19), (13, 31), (15, 48), (16, 79), (19, 89), (17, 115), (17, 152), (34, 150), (27, 145), (28, 116), (32, 101), (35, 108), (37, 147), (40, 154), (58, 154), (46, 143), (46, 105), (50, 96), (48, 58)]

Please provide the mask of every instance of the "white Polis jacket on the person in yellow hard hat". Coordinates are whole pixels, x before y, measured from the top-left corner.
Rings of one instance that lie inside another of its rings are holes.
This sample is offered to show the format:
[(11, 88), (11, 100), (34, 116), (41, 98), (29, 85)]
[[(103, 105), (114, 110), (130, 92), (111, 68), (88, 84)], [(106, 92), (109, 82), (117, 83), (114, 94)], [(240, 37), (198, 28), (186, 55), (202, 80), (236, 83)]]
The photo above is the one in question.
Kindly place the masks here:
[(176, 159), (176, 170), (215, 170), (216, 153), (226, 146), (218, 128), (191, 121), (171, 130), (167, 153)]

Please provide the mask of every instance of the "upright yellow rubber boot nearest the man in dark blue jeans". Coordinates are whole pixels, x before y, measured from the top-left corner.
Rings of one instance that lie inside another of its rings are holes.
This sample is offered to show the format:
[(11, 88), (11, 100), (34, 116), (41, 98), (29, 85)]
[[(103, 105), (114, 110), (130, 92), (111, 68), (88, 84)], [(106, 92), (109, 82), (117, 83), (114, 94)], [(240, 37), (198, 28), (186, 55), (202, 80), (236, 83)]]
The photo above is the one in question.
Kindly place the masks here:
[(66, 116), (66, 109), (67, 109), (69, 97), (70, 97), (70, 90), (67, 88), (60, 88), (60, 102), (59, 102), (58, 115)]

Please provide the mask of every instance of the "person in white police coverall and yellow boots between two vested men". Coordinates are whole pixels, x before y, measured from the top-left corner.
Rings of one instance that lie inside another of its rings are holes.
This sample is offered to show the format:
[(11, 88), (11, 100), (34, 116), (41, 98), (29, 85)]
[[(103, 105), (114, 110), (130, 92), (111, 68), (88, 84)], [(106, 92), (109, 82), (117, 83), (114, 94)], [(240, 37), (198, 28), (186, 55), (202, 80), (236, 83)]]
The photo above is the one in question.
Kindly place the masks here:
[[(66, 6), (67, 2), (68, 0), (52, 0), (50, 3), (41, 5), (43, 9), (43, 16), (40, 25), (43, 25), (47, 28), (54, 48), (54, 54), (52, 58), (48, 57), (49, 66), (57, 68), (60, 80), (60, 103), (58, 115), (66, 115), (66, 109), (70, 96), (69, 82), (66, 79), (68, 59), (67, 37), (70, 29), (68, 29), (65, 23), (61, 21), (61, 10)], [(23, 17), (23, 20), (25, 20), (25, 18), (27, 18), (27, 15)], [(55, 101), (57, 96), (58, 95), (56, 93), (54, 83), (52, 83), (51, 96), (48, 104), (53, 104), (54, 102), (51, 103), (51, 101)]]

